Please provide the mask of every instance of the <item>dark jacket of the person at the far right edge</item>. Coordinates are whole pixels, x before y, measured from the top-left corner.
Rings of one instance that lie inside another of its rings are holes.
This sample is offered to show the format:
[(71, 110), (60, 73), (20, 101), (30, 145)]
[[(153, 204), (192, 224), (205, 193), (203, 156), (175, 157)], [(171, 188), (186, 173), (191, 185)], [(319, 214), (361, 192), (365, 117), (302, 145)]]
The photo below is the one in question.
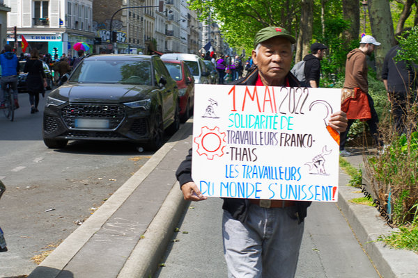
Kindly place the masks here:
[[(394, 60), (400, 47), (396, 45), (390, 49), (383, 62), (382, 79), (387, 80), (388, 92), (412, 92), (416, 88), (416, 65), (407, 64), (405, 61)], [(403, 94), (405, 95), (405, 94)]]

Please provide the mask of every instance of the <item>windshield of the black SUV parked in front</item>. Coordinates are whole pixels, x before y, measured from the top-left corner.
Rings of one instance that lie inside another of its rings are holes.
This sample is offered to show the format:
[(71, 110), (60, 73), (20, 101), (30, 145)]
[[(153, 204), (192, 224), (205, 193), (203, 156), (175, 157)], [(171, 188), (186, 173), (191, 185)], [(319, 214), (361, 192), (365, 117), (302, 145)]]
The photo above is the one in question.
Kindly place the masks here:
[(84, 60), (69, 82), (151, 85), (151, 64), (146, 60)]

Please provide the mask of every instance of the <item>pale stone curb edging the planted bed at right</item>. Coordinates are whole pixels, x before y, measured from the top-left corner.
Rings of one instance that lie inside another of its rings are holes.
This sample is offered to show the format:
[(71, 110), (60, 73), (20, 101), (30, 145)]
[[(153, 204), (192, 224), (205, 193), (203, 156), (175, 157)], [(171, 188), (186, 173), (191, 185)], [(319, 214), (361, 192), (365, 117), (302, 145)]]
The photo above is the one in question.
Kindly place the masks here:
[[(348, 183), (348, 178), (346, 181)], [(350, 199), (364, 197), (364, 194), (358, 193), (359, 191), (361, 191), (359, 188), (340, 185), (338, 206), (380, 276), (418, 277), (418, 256), (415, 252), (393, 249), (377, 241), (380, 235), (389, 235), (390, 232), (398, 229), (390, 228), (374, 206), (350, 202)]]

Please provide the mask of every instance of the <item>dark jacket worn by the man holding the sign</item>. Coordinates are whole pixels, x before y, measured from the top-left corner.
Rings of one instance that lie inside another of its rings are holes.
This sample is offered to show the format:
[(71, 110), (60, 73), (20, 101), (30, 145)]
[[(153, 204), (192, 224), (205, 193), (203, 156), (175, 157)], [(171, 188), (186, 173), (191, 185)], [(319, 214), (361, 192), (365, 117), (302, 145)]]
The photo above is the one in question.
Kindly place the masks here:
[[(253, 70), (250, 72), (245, 78), (238, 79), (237, 81), (233, 81), (231, 84), (236, 85), (256, 85), (256, 81), (258, 78), (258, 69)], [(299, 81), (297, 81), (296, 77), (288, 73), (286, 76), (288, 83), (291, 87), (299, 86)], [(192, 180), (192, 149), (189, 149), (189, 154), (186, 156), (185, 160), (180, 163), (178, 169), (176, 171), (176, 177), (180, 186), (183, 184), (193, 181)], [(247, 213), (249, 208), (249, 199), (237, 199), (237, 198), (223, 198), (224, 204), (222, 208), (226, 211), (231, 213), (232, 217), (240, 222), (245, 222), (247, 220)], [(297, 201), (297, 218), (300, 222), (304, 220), (307, 216), (307, 208), (311, 205), (311, 202), (304, 202), (304, 201)]]

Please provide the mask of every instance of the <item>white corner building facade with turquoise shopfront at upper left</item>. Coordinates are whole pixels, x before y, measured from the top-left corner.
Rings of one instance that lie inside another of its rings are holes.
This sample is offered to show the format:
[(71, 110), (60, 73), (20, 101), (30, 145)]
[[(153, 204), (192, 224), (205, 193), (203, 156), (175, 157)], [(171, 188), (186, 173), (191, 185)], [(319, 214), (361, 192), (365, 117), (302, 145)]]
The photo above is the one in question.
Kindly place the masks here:
[[(93, 44), (93, 3), (91, 0), (4, 0), (8, 13), (7, 41), (22, 52), (22, 35), (41, 54), (75, 55), (76, 42)], [(17, 38), (14, 29), (17, 30)], [(16, 43), (17, 42), (17, 43)]]

